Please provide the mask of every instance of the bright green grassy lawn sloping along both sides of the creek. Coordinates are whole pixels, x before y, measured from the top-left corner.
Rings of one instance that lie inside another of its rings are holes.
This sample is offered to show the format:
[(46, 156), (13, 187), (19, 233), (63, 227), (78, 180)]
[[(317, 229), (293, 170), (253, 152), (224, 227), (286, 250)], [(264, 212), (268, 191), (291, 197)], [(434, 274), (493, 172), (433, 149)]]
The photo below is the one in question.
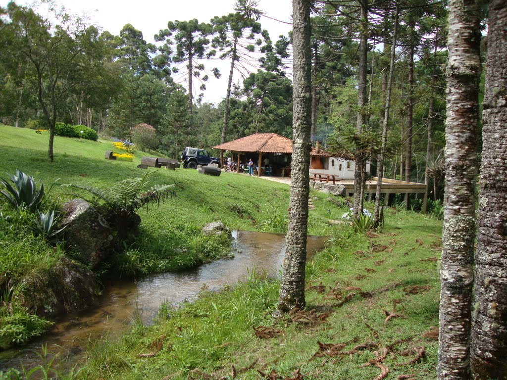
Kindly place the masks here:
[[(112, 148), (105, 140), (56, 136), (51, 164), (46, 135), (6, 126), (0, 126), (0, 135), (4, 177), (18, 168), (45, 184), (60, 178), (58, 183), (108, 188), (146, 172), (136, 168), (145, 155), (140, 152), (134, 162), (105, 160), (104, 151)], [(177, 270), (223, 253), (220, 242), (199, 234), (200, 227), (211, 221), (250, 231), (283, 232), (285, 228), (286, 184), (225, 172), (220, 177), (204, 176), (188, 169), (155, 169), (149, 179), (150, 184), (174, 183), (176, 196), (149, 212), (139, 212), (139, 239), (127, 250), (136, 254), (118, 262), (131, 265), (126, 274)], [(347, 224), (329, 223), (340, 219), (346, 207), (337, 206), (326, 194), (311, 192), (310, 196), (316, 207), (310, 210), (309, 234), (332, 239), (307, 264), (306, 312), (273, 320), (279, 283), (254, 273), (246, 283), (220, 293), (203, 292), (198, 300), (177, 310), (161, 306), (152, 326), (134, 322), (120, 339), (90, 342), (79, 373), (62, 378), (259, 379), (258, 370), (265, 374), (273, 370), (281, 378), (298, 379), (294, 372), (299, 370), (304, 379), (374, 379), (386, 368), (388, 379), (402, 374), (436, 378), (438, 344), (434, 333), (425, 332), (438, 326), (436, 261), (441, 222), (389, 209), (383, 230), (368, 237)], [(60, 203), (72, 198), (68, 188), (59, 186), (51, 197)], [(5, 207), (0, 203), (0, 210)], [(19, 245), (15, 252), (23, 251), (25, 243), (16, 240), (16, 235), (5, 235), (9, 243), (0, 245), (0, 257), (13, 259), (12, 244)], [(34, 250), (32, 269), (53, 265), (58, 255), (65, 254), (38, 244), (41, 248)], [(185, 255), (178, 256), (178, 247), (187, 249)], [(132, 262), (132, 257), (138, 261)], [(18, 279), (28, 267), (18, 272)], [(277, 329), (267, 330), (267, 335), (276, 336), (256, 337), (252, 326)], [(343, 346), (318, 351), (331, 348), (318, 342)], [(363, 346), (354, 350), (358, 345)], [(366, 365), (376, 355), (378, 360)]]

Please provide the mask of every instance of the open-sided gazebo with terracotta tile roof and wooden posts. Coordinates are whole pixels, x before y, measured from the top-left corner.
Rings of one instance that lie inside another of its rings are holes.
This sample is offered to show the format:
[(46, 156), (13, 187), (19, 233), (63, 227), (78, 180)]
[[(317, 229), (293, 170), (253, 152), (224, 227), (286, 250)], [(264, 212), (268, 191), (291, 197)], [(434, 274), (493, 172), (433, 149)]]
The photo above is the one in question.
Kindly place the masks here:
[[(268, 163), (275, 169), (275, 175), (283, 176), (291, 170), (292, 140), (276, 133), (255, 133), (213, 148), (220, 149), (221, 162), (224, 162), (224, 151), (230, 151), (233, 156), (237, 155), (237, 172), (240, 170), (241, 156), (245, 156), (245, 164), (247, 158), (255, 162), (257, 156), (257, 167), (262, 168)], [(261, 175), (261, 170), (257, 171), (257, 175)]]

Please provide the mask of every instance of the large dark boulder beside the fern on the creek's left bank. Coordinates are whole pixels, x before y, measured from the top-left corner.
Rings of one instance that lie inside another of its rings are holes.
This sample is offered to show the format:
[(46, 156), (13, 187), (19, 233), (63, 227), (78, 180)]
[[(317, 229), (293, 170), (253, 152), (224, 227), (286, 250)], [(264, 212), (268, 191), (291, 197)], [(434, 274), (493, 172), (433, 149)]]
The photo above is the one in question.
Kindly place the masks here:
[(81, 262), (96, 267), (113, 248), (113, 231), (93, 206), (82, 199), (65, 203), (63, 210), (65, 244), (79, 255)]

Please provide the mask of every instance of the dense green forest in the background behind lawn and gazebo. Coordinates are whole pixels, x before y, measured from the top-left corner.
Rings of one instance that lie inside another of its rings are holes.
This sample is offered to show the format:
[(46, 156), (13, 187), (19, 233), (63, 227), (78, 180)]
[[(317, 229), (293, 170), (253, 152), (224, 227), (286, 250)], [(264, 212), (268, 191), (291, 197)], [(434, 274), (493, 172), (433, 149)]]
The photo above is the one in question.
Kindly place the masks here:
[[(157, 137), (149, 148), (170, 157), (256, 132), (292, 138), (292, 35), (270, 36), (253, 0), (234, 10), (209, 22), (169, 21), (152, 44), (131, 24), (113, 35), (60, 8), (45, 18), (9, 3), (0, 21), (0, 117), (129, 139), (146, 123)], [(384, 176), (428, 176), (434, 199), (443, 193), (446, 18), (445, 2), (410, 0), (316, 2), (311, 19), (313, 141), (354, 159), (359, 123), (376, 174), (394, 34)], [(230, 72), (212, 67), (218, 59)], [(233, 83), (236, 70), (243, 80)], [(206, 82), (220, 75), (229, 76), (224, 100), (203, 102)]]

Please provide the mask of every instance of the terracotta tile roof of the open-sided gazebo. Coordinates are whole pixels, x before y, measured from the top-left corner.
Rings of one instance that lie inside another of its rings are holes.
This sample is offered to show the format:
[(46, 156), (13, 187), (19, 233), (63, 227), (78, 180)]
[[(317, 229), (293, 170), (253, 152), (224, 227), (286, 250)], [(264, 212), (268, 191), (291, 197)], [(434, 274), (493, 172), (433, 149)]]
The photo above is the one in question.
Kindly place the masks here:
[(213, 148), (262, 153), (292, 153), (292, 140), (276, 133), (254, 133), (213, 146)]

